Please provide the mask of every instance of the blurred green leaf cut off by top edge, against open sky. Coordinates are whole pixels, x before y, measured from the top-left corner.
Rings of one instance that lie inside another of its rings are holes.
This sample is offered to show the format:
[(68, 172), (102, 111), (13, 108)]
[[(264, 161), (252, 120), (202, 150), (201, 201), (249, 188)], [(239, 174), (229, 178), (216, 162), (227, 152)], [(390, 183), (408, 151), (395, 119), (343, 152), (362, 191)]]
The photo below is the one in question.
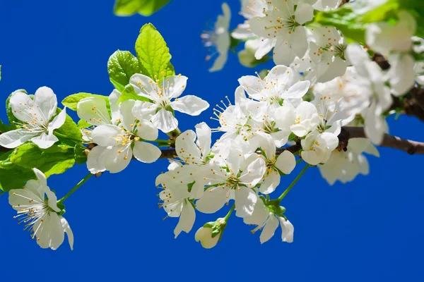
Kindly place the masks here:
[(165, 6), (170, 0), (117, 0), (114, 5), (114, 14), (117, 16), (132, 16), (141, 13), (151, 16)]

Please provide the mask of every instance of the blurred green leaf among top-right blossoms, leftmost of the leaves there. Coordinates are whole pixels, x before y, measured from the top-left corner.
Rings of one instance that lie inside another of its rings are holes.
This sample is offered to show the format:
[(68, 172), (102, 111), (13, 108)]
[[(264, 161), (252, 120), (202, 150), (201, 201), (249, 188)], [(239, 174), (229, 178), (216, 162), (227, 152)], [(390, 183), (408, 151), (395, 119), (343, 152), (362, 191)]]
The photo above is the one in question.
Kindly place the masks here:
[(365, 24), (358, 22), (358, 15), (348, 6), (328, 12), (318, 11), (314, 23), (336, 27), (348, 42), (365, 43)]

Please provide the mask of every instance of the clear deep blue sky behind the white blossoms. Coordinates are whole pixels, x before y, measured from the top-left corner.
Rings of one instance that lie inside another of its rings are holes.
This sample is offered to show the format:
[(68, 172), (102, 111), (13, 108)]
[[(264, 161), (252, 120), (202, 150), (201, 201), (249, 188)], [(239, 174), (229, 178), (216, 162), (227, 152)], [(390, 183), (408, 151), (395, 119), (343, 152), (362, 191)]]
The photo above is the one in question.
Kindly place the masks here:
[[(200, 34), (221, 1), (174, 0), (150, 18), (118, 18), (112, 0), (1, 1), (1, 101), (18, 88), (52, 87), (59, 101), (76, 92), (110, 94), (107, 59), (116, 49), (134, 52), (144, 23), (153, 23), (172, 53), (177, 73), (189, 77), (185, 94), (213, 105), (233, 96), (237, 78), (261, 68), (240, 66), (230, 54), (223, 71), (208, 73)], [(232, 0), (232, 27), (242, 21)], [(269, 68), (272, 65), (268, 66)], [(177, 114), (182, 130), (208, 121)], [(5, 118), (4, 110), (1, 118)], [(75, 115), (74, 115), (75, 116)], [(209, 122), (209, 121), (208, 121)], [(210, 123), (211, 127), (217, 126)], [(391, 133), (424, 140), (415, 118), (390, 120)], [(194, 241), (197, 228), (218, 216), (198, 214), (192, 233), (177, 240), (177, 219), (163, 221), (155, 176), (166, 160), (133, 161), (118, 175), (91, 178), (66, 200), (74, 250), (42, 250), (13, 219), (7, 195), (0, 197), (0, 281), (424, 281), (423, 157), (380, 149), (369, 157), (370, 176), (329, 186), (317, 168), (307, 171), (285, 197), (295, 226), (294, 243), (282, 243), (280, 230), (268, 243), (233, 216), (223, 240), (212, 250)], [(86, 176), (75, 166), (49, 178), (59, 197)], [(281, 190), (293, 180), (284, 178)], [(279, 192), (276, 192), (279, 195)]]

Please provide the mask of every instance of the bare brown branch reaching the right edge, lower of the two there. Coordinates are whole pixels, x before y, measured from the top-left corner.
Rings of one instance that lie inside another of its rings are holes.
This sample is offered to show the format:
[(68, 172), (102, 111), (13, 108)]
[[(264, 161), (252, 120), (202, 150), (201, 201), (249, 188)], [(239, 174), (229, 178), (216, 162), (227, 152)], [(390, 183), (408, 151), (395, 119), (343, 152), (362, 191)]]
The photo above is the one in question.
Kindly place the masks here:
[[(348, 139), (367, 137), (365, 135), (364, 128), (345, 126), (343, 127), (343, 130), (346, 130), (348, 132)], [(400, 149), (404, 152), (407, 152), (408, 154), (424, 154), (424, 142), (407, 140), (401, 137), (389, 135), (387, 133), (384, 133), (383, 142), (379, 146)]]

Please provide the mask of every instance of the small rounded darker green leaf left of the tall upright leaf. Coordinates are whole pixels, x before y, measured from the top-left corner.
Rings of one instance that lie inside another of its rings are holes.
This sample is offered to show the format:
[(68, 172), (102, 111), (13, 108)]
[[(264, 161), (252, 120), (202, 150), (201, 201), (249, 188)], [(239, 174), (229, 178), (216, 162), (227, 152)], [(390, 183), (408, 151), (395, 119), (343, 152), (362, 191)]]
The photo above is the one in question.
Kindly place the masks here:
[(139, 61), (130, 51), (115, 51), (107, 61), (110, 82), (122, 92), (134, 73), (141, 73)]

